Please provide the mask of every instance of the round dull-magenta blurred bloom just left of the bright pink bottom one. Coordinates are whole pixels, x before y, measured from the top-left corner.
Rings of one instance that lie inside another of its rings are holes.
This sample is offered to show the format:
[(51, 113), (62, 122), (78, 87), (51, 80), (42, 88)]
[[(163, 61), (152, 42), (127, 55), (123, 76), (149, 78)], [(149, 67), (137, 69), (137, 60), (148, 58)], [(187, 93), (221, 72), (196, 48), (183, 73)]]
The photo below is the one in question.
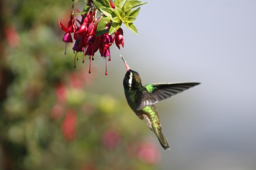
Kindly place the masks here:
[(103, 145), (109, 149), (117, 147), (120, 141), (121, 137), (115, 130), (106, 130), (102, 137)]

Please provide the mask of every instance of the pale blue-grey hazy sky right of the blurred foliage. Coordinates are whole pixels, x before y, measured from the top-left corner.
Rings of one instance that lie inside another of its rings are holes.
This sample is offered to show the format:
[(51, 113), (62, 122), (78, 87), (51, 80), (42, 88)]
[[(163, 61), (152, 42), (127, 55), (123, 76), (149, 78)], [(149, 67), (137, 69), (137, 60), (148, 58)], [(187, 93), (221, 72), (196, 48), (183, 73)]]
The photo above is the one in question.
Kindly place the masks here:
[(119, 54), (143, 84), (202, 83), (156, 104), (171, 148), (159, 145), (161, 170), (255, 170), (256, 1), (146, 2), (139, 35), (122, 26), (125, 48), (112, 48), (113, 91), (124, 96)]

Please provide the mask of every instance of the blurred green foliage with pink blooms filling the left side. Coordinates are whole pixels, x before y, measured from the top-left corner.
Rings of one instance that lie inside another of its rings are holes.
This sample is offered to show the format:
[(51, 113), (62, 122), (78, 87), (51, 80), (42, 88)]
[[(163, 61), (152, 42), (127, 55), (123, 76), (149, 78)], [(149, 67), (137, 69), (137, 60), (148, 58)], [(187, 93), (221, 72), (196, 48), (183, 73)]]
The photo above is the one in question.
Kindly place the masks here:
[(56, 18), (68, 20), (71, 1), (0, 3), (0, 169), (155, 169), (144, 122), (125, 101), (87, 91), (93, 74), (64, 55)]

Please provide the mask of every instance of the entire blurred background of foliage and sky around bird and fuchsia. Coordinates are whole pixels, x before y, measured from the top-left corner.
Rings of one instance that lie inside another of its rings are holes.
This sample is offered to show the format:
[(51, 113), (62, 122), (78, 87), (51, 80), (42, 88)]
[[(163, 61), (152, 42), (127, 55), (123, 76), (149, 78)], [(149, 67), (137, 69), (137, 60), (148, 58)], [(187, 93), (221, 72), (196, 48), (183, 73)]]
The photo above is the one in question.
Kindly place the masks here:
[[(256, 2), (147, 2), (107, 76), (64, 55), (70, 1), (0, 2), (0, 169), (255, 170)], [(119, 54), (143, 84), (202, 83), (156, 104), (170, 150), (126, 104)]]

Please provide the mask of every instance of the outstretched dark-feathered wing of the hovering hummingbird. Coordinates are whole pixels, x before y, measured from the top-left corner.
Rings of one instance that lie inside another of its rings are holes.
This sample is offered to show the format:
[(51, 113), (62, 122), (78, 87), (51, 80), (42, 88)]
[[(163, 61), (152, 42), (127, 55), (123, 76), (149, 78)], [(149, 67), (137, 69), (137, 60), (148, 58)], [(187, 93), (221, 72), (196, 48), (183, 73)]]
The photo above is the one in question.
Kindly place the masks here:
[(200, 83), (156, 83), (147, 84), (142, 91), (137, 110), (151, 106)]

